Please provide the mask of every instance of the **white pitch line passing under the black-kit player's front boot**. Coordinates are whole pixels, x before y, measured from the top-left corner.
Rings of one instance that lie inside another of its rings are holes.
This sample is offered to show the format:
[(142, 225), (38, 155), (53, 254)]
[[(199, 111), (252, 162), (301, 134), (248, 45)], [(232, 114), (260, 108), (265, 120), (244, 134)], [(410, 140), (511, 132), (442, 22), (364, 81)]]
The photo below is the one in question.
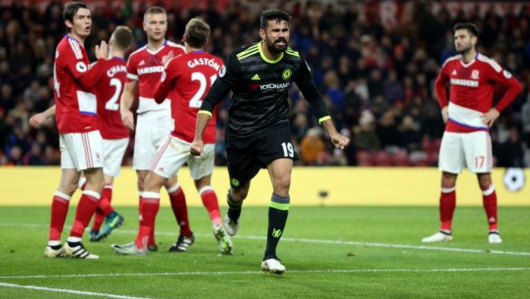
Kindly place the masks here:
[[(290, 270), (287, 273), (433, 273), (433, 272), (487, 272), (487, 271), (530, 271), (530, 267), (517, 268), (447, 268), (447, 269), (324, 269), (324, 270)], [(153, 272), (153, 273), (88, 273), (65, 275), (30, 275), (0, 276), (0, 279), (35, 279), (35, 278), (92, 278), (92, 277), (127, 277), (127, 276), (224, 276), (239, 274), (260, 274), (262, 271), (195, 271), (195, 272)], [(1, 282), (0, 282), (1, 285)], [(120, 297), (121, 298), (121, 297)]]

